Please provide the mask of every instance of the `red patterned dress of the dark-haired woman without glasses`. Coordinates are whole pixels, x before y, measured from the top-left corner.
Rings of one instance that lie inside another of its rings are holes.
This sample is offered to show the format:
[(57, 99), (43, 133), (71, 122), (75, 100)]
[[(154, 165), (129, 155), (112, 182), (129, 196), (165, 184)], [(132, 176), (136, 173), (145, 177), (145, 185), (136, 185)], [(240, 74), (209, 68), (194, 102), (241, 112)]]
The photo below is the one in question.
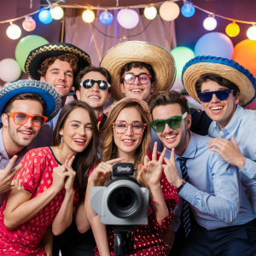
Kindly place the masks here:
[[(44, 190), (49, 189), (53, 182), (53, 168), (58, 166), (49, 148), (30, 150), (20, 163), (22, 163), (22, 168), (15, 175), (15, 178), (19, 178), (21, 186), (32, 193), (31, 199), (43, 193)], [(7, 230), (3, 224), (8, 196), (6, 196), (0, 209), (0, 255), (46, 256), (41, 240), (61, 207), (65, 196), (65, 189), (61, 189), (49, 205), (44, 207), (33, 218), (11, 231)], [(79, 195), (76, 192), (74, 205), (78, 201)]]

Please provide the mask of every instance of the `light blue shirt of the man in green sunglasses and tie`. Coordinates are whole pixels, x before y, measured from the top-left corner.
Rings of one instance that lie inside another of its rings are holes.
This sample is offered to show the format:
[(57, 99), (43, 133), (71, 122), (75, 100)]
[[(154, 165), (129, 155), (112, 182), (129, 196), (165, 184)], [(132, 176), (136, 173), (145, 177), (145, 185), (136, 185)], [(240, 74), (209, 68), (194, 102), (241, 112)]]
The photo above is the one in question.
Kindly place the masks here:
[[(179, 192), (179, 204), (175, 208), (170, 230), (178, 228), (183, 199), (189, 206), (197, 224), (207, 230), (216, 230), (230, 225), (241, 225), (256, 218), (253, 206), (241, 187), (239, 172), (217, 153), (208, 148), (210, 137), (189, 131), (189, 145), (182, 157), (187, 158), (189, 183)], [(170, 158), (167, 149), (166, 157)], [(180, 164), (175, 155), (177, 172), (182, 177)]]

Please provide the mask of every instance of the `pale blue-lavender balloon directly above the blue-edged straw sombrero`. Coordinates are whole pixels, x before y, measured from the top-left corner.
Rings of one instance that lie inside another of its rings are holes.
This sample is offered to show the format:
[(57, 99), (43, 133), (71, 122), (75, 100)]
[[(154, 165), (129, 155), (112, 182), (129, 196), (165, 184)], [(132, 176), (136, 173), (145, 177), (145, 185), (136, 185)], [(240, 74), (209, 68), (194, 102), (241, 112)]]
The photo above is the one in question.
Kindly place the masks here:
[(195, 44), (195, 56), (211, 55), (231, 59), (234, 46), (228, 36), (221, 32), (210, 32), (202, 36)]

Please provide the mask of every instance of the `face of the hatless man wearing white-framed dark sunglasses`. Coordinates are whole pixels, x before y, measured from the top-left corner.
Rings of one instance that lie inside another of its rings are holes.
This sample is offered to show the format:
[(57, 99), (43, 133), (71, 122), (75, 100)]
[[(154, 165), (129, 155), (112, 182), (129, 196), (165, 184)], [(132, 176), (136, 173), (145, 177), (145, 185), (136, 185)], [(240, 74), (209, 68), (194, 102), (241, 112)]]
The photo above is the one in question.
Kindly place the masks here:
[[(102, 73), (94, 71), (86, 73), (81, 79), (81, 82), (86, 79), (108, 81)], [(109, 101), (111, 96), (108, 90), (100, 90), (96, 83), (90, 89), (85, 89), (83, 86), (80, 86), (79, 90), (76, 91), (76, 95), (79, 101), (86, 102), (94, 110), (102, 110), (102, 112), (104, 105)]]

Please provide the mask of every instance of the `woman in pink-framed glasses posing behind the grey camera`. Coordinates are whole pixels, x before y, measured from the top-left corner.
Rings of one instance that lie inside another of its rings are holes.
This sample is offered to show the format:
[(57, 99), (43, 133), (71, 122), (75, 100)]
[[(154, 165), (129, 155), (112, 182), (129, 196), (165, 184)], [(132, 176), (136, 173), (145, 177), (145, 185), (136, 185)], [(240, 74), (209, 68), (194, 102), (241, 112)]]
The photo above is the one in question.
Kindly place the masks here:
[(109, 108), (108, 119), (101, 131), (102, 163), (91, 172), (85, 196), (85, 215), (96, 238), (96, 255), (112, 255), (114, 232), (108, 229), (107, 233), (105, 225), (100, 223), (101, 216), (92, 210), (90, 190), (108, 182), (112, 166), (117, 162), (134, 164), (138, 182), (149, 189), (150, 199), (154, 202), (148, 225), (133, 230), (135, 253), (132, 255), (166, 255), (165, 235), (172, 222), (172, 210), (177, 205), (177, 190), (162, 172), (166, 149), (157, 154), (155, 143), (153, 153), (148, 154), (150, 119), (147, 103), (136, 98), (126, 97)]

